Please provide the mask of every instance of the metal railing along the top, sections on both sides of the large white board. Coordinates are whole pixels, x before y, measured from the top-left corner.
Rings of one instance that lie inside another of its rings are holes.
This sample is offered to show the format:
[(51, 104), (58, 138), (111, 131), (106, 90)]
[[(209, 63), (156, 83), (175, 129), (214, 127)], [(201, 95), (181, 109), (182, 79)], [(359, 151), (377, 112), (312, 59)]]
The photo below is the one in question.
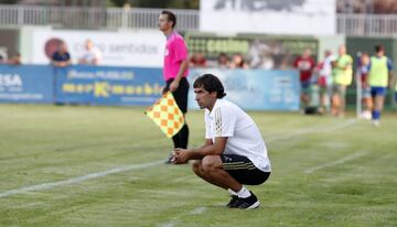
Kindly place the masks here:
[[(153, 29), (160, 9), (31, 7), (0, 4), (0, 26), (52, 25), (63, 29)], [(198, 10), (173, 10), (180, 31), (200, 30)], [(396, 14), (336, 14), (336, 32), (397, 35)]]

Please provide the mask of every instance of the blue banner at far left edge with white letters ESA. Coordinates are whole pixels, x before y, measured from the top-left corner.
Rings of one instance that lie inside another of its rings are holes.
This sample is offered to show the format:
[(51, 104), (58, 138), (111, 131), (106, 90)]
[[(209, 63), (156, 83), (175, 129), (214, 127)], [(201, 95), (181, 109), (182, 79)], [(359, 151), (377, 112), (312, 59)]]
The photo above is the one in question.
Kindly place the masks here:
[(0, 102), (53, 102), (53, 69), (46, 65), (0, 65)]

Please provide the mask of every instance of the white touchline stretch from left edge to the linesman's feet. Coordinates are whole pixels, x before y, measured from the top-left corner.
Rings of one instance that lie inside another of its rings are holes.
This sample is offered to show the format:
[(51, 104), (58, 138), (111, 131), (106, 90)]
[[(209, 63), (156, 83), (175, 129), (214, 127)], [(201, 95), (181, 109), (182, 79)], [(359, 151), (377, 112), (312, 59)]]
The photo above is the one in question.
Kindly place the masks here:
[(10, 191), (0, 193), (0, 198), (8, 197), (11, 195), (18, 195), (18, 194), (22, 194), (22, 193), (28, 193), (28, 192), (32, 192), (32, 191), (50, 190), (50, 188), (53, 188), (56, 186), (76, 184), (76, 183), (93, 180), (93, 179), (104, 177), (109, 174), (121, 173), (121, 172), (131, 171), (131, 170), (147, 169), (147, 167), (150, 167), (153, 165), (161, 164), (163, 162), (164, 162), (164, 160), (155, 161), (155, 162), (148, 162), (148, 163), (143, 163), (143, 164), (128, 165), (128, 166), (111, 169), (111, 170), (104, 171), (104, 172), (90, 173), (87, 175), (77, 176), (74, 179), (65, 180), (65, 181), (43, 183), (43, 184), (36, 184), (36, 185), (32, 185), (32, 186), (20, 187), (17, 190), (10, 190)]

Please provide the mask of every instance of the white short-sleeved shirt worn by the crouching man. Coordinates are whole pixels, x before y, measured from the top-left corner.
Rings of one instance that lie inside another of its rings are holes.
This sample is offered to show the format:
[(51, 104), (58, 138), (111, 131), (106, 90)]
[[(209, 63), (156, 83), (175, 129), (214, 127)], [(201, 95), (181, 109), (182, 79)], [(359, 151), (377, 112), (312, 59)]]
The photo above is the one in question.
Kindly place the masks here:
[(213, 110), (205, 109), (205, 138), (227, 137), (224, 154), (247, 156), (254, 165), (270, 172), (265, 141), (254, 120), (235, 104), (217, 99)]

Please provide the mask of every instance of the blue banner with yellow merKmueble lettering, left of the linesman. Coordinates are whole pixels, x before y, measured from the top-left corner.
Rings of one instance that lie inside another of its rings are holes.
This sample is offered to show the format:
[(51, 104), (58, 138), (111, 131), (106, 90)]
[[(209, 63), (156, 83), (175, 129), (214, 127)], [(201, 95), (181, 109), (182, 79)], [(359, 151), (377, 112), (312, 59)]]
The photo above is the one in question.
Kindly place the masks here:
[(150, 106), (161, 97), (161, 68), (75, 65), (55, 69), (56, 101)]

